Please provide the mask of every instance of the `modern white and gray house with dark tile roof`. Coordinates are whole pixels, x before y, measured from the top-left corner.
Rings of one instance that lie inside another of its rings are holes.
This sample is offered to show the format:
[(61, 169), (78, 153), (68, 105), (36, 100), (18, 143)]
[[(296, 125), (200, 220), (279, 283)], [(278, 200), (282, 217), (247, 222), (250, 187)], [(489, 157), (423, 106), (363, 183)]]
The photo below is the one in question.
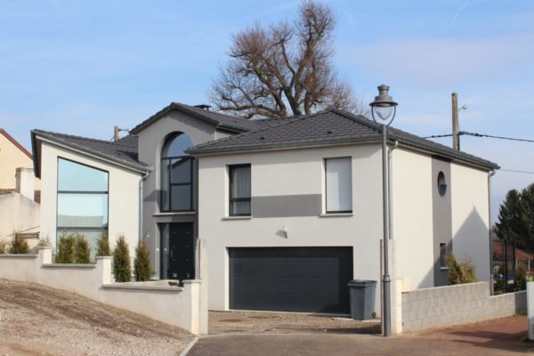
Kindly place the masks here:
[[(490, 280), (498, 166), (394, 128), (388, 138), (396, 276), (441, 286), (452, 251)], [(118, 142), (34, 130), (42, 233), (124, 233), (132, 250), (142, 236), (160, 279), (196, 278), (206, 239), (210, 309), (348, 312), (346, 283), (380, 280), (380, 140), (372, 121), (335, 109), (247, 121), (177, 103)]]

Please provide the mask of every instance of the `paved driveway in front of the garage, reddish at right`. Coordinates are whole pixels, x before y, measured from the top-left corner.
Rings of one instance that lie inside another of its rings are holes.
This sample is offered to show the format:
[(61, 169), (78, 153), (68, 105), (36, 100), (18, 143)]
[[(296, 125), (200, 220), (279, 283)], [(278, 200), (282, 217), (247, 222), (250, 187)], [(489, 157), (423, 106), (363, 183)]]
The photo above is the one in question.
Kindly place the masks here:
[[(246, 319), (242, 318), (240, 313), (233, 313), (231, 317), (235, 320)], [(336, 323), (336, 320), (328, 320), (328, 318), (324, 320), (327, 325)], [(299, 323), (293, 326), (291, 323), (281, 323), (279, 326), (273, 323), (272, 328), (267, 329), (266, 332), (260, 332), (259, 328), (251, 328), (248, 330), (250, 332), (247, 332), (244, 328), (247, 325), (245, 323), (242, 324), (243, 328), (239, 327), (240, 331), (234, 328), (233, 331), (223, 333), (221, 327), (230, 322), (214, 321), (211, 329), (215, 331), (215, 334), (198, 340), (187, 356), (288, 354), (473, 356), (534, 353), (534, 344), (522, 341), (527, 333), (527, 320), (524, 316), (389, 338), (354, 334), (353, 331), (363, 331), (364, 328), (350, 328), (348, 320), (341, 321), (342, 324), (347, 325), (346, 328), (327, 326), (323, 328), (323, 331), (320, 331), (318, 326), (313, 326), (313, 323), (310, 328), (300, 329), (296, 328)]]

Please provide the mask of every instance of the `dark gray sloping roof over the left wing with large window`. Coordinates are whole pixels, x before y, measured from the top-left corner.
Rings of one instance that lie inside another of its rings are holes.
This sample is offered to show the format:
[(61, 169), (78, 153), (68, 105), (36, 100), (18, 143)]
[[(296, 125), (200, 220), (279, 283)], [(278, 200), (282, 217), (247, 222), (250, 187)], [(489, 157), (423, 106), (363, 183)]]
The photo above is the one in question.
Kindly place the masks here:
[(32, 146), (35, 160), (36, 174), (40, 174), (38, 169), (38, 155), (36, 155), (36, 136), (53, 142), (61, 143), (73, 149), (82, 150), (87, 153), (92, 153), (101, 158), (107, 158), (119, 164), (130, 166), (138, 170), (147, 171), (149, 167), (138, 161), (137, 150), (137, 136), (128, 135), (120, 139), (118, 142), (108, 142), (103, 140), (90, 139), (81, 136), (74, 136), (71, 134), (58, 134), (43, 130), (32, 130)]

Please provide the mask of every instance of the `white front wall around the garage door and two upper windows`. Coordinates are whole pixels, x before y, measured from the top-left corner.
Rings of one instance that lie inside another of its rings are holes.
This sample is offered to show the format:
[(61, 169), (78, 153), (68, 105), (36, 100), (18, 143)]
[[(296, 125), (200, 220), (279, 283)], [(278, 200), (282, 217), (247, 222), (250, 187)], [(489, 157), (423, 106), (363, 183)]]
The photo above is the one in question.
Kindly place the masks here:
[[(352, 216), (224, 219), (228, 215), (227, 165), (251, 164), (253, 197), (322, 195), (323, 158), (336, 157), (352, 157)], [(354, 278), (380, 279), (379, 145), (215, 156), (199, 158), (198, 165), (198, 236), (207, 244), (210, 309), (229, 308), (228, 247), (353, 247)], [(280, 233), (283, 226), (287, 226), (287, 239)], [(376, 295), (379, 312), (379, 290)]]

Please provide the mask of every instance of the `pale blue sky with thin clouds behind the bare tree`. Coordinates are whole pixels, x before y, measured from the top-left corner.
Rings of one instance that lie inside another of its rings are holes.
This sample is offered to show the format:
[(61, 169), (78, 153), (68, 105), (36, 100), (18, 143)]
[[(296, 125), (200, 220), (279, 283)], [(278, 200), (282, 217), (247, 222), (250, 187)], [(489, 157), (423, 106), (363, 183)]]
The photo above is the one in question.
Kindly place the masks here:
[[(534, 139), (534, 1), (327, 3), (338, 75), (364, 101), (390, 85), (393, 126), (449, 134), (457, 92), (461, 130)], [(209, 103), (231, 36), (295, 20), (298, 4), (0, 0), (0, 127), (28, 149), (33, 128), (109, 140), (172, 101)], [(534, 143), (462, 136), (461, 149), (502, 167), (493, 221), (508, 190), (534, 182)]]

